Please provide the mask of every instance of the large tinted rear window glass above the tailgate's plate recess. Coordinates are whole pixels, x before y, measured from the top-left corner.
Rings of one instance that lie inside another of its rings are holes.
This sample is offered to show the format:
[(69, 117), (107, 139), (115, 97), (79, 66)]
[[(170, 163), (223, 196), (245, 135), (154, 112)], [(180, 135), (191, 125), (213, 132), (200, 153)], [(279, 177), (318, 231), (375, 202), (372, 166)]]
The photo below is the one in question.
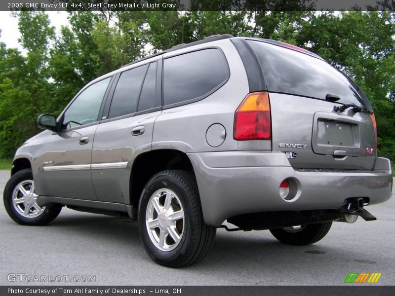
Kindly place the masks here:
[(322, 100), (330, 93), (340, 97), (337, 103), (354, 103), (371, 109), (356, 84), (325, 61), (265, 42), (247, 42), (258, 57), (269, 92)]

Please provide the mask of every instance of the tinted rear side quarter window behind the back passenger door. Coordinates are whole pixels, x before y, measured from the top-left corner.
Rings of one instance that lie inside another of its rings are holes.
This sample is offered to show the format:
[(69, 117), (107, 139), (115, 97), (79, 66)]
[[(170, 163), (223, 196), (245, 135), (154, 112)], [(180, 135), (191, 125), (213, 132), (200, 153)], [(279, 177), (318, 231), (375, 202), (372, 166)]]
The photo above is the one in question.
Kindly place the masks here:
[(209, 96), (229, 79), (230, 71), (223, 52), (202, 49), (164, 59), (163, 106), (176, 107)]

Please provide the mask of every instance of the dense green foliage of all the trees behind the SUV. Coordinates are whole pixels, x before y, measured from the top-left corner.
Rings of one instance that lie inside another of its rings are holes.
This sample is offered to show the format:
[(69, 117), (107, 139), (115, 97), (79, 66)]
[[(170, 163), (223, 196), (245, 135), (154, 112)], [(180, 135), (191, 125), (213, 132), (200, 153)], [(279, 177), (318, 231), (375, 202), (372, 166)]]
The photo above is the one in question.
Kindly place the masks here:
[(395, 14), (378, 11), (73, 12), (55, 35), (48, 16), (17, 15), (26, 53), (0, 43), (0, 158), (36, 134), (93, 78), (214, 34), (282, 40), (316, 52), (363, 89), (376, 113), (379, 154), (395, 159)]

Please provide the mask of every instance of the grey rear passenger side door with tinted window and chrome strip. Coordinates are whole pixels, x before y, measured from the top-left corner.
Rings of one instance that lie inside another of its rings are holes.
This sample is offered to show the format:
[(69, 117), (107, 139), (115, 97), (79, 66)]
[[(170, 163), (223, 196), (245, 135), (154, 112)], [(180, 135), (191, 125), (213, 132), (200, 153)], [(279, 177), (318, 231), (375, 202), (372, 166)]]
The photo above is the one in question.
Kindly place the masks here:
[(99, 201), (129, 203), (131, 164), (151, 150), (154, 122), (161, 112), (160, 74), (159, 62), (119, 74), (92, 150), (92, 182)]

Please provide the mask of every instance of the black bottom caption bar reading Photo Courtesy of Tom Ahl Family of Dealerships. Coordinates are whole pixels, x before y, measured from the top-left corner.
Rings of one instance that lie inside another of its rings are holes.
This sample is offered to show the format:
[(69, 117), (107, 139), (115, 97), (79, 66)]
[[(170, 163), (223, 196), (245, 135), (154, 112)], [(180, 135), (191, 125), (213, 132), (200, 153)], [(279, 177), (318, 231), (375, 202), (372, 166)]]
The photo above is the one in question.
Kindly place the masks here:
[[(324, 270), (323, 270), (324, 272)], [(240, 279), (241, 280), (241, 279)], [(324, 284), (324, 283), (323, 283)], [(67, 292), (68, 289), (71, 293)], [(15, 292), (19, 291), (21, 293)], [(37, 291), (35, 293), (35, 291)], [(66, 291), (66, 292), (65, 292)], [(90, 293), (87, 291), (91, 291)], [(93, 292), (92, 292), (93, 291)], [(49, 293), (48, 293), (49, 292)], [(1, 286), (1, 296), (392, 296), (394, 286)]]

